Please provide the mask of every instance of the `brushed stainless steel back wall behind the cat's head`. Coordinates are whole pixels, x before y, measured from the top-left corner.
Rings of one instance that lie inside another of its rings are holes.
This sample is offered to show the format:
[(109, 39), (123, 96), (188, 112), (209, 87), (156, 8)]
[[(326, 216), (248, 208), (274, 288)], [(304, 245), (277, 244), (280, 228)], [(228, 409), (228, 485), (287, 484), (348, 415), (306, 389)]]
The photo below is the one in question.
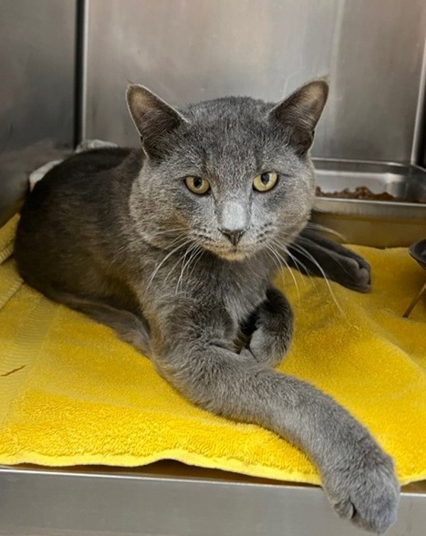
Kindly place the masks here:
[(315, 155), (409, 161), (425, 0), (87, 0), (83, 135), (134, 144), (128, 81), (171, 103), (328, 76)]

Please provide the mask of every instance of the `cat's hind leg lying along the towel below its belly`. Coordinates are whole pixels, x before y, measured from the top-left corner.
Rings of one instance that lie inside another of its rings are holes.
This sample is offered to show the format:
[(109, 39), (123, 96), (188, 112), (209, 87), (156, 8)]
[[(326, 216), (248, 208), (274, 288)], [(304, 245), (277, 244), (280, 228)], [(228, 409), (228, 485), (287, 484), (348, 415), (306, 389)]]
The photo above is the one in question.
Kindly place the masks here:
[(100, 324), (104, 324), (145, 356), (150, 356), (149, 326), (143, 316), (135, 315), (124, 309), (111, 307), (102, 301), (80, 297), (68, 292), (50, 290), (46, 295), (55, 302), (62, 303), (78, 312), (84, 313)]

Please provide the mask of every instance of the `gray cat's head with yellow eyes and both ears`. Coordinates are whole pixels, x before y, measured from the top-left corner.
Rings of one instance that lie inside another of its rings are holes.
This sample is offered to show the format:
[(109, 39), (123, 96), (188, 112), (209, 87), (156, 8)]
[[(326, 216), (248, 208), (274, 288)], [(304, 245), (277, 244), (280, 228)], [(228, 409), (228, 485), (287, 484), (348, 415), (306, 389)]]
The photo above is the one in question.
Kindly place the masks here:
[(131, 85), (146, 153), (131, 199), (138, 231), (163, 248), (187, 240), (227, 260), (289, 244), (312, 209), (310, 147), (327, 93), (320, 80), (278, 104), (224, 97), (175, 109)]

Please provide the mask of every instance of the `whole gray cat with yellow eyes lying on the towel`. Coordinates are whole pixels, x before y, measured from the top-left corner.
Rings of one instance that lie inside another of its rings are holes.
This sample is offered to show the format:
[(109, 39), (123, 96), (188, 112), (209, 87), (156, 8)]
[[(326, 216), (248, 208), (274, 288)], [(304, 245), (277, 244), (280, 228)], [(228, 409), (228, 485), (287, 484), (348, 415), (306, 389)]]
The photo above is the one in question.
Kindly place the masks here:
[(178, 110), (131, 85), (141, 148), (50, 170), (23, 207), (16, 260), (30, 285), (114, 328), (192, 403), (299, 446), (334, 510), (383, 532), (399, 497), (391, 458), (332, 398), (273, 371), (293, 332), (271, 285), (289, 248), (297, 266), (298, 253), (323, 253), (329, 277), (368, 290), (362, 259), (307, 230), (327, 92), (317, 81), (279, 104), (227, 97)]

